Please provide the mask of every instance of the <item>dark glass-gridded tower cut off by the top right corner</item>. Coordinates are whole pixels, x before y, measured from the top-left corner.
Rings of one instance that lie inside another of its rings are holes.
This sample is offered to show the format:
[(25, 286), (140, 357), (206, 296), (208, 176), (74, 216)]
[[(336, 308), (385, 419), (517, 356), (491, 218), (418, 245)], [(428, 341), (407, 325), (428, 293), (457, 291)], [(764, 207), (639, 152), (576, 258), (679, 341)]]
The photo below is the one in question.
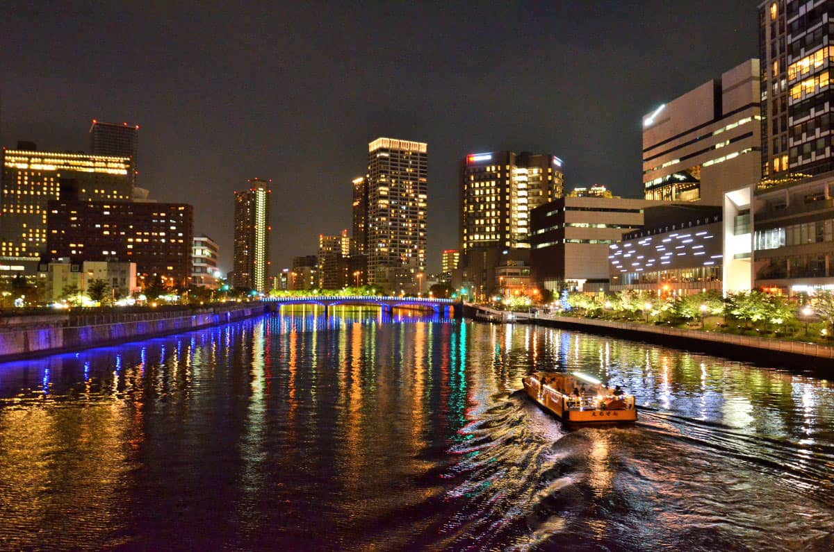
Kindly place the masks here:
[(834, 170), (834, 0), (771, 0), (759, 5), (762, 173)]

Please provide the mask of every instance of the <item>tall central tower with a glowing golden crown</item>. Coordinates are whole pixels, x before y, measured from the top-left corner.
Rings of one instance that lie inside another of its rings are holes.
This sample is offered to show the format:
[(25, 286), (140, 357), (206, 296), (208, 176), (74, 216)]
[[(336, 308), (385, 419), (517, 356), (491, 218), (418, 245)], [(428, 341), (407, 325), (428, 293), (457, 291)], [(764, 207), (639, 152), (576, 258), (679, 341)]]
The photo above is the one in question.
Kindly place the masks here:
[(377, 138), (368, 144), (369, 284), (413, 287), (425, 271), (427, 189), (426, 143)]

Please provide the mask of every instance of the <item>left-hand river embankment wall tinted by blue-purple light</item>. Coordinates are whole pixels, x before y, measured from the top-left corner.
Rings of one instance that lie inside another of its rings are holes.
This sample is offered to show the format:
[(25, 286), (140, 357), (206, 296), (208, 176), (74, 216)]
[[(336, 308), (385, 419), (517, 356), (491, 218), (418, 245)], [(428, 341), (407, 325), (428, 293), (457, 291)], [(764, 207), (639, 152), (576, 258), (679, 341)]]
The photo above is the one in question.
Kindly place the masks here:
[(77, 318), (68, 314), (6, 318), (0, 324), (0, 362), (178, 334), (267, 312), (269, 304), (231, 304)]

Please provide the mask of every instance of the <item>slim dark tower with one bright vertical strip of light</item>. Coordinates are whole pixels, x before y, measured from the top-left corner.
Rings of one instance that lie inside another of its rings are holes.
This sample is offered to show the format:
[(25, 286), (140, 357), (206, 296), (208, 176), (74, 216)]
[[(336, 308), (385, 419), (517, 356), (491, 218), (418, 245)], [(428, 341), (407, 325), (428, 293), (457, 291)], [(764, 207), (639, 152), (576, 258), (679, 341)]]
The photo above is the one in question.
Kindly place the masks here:
[(236, 288), (267, 289), (269, 273), (269, 196), (271, 180), (249, 179), (234, 193), (234, 276)]

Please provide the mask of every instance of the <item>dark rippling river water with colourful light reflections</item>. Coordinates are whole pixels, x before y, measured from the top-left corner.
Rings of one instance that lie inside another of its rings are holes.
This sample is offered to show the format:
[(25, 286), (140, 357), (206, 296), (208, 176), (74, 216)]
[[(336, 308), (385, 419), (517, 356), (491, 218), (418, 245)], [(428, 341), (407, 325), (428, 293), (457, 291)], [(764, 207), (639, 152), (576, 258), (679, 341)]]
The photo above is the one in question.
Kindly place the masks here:
[[(0, 549), (834, 549), (834, 384), (313, 309), (0, 364)], [(630, 427), (522, 393), (580, 369)]]

